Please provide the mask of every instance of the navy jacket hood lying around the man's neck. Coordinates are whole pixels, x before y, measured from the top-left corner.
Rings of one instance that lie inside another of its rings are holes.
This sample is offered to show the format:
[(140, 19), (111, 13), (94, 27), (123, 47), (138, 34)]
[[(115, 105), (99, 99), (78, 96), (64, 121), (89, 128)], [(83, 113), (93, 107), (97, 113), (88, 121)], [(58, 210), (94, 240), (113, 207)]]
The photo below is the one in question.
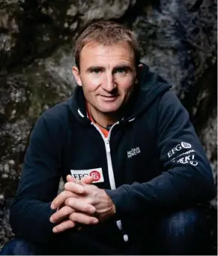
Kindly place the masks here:
[[(136, 84), (136, 89), (125, 106), (122, 122), (130, 122), (135, 119), (140, 113), (145, 112), (157, 98), (172, 88), (166, 80), (151, 72), (147, 65), (141, 64), (139, 83)], [(87, 117), (85, 97), (81, 86), (76, 86), (73, 95), (68, 99), (68, 105), (76, 119), (86, 124), (91, 123)]]

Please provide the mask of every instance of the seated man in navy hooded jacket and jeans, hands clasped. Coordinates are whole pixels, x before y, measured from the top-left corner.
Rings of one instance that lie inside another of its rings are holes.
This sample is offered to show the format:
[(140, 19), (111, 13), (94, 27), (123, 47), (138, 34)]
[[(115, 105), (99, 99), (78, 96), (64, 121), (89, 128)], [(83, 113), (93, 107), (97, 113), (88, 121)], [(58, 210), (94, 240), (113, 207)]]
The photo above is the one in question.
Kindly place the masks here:
[(214, 179), (171, 86), (117, 23), (88, 26), (75, 59), (73, 96), (31, 133), (3, 253), (204, 253)]

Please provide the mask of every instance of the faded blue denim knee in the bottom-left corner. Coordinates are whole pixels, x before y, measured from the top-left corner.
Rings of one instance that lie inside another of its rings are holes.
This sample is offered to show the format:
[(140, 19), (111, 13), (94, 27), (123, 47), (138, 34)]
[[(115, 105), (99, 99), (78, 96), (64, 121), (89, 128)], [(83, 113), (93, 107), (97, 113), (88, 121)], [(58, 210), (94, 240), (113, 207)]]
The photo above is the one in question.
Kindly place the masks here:
[(34, 245), (25, 239), (15, 238), (7, 242), (1, 250), (1, 255), (34, 255), (36, 254)]

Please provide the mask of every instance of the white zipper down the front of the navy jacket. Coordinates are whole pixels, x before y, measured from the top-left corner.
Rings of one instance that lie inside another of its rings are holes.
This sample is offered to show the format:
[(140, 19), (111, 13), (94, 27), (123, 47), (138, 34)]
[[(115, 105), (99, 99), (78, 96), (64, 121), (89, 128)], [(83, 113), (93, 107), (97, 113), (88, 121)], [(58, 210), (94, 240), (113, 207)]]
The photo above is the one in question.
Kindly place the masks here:
[[(109, 134), (108, 137), (104, 137), (102, 131), (100, 131), (100, 128), (97, 127), (97, 125), (94, 124), (94, 122), (91, 122), (91, 125), (94, 125), (95, 128), (97, 128), (97, 131), (100, 132), (101, 137), (103, 138), (104, 144), (105, 144), (105, 148), (106, 148), (106, 161), (107, 161), (107, 167), (108, 167), (108, 173), (109, 173), (109, 183), (112, 189), (116, 188), (115, 185), (115, 176), (114, 176), (114, 172), (113, 172), (113, 167), (112, 167), (112, 157), (111, 157), (111, 149), (110, 149), (110, 145), (109, 145), (109, 139), (110, 139), (110, 135), (112, 132), (112, 128), (115, 127), (115, 125), (118, 125), (119, 122), (115, 122), (114, 125), (112, 125), (112, 127), (109, 130)], [(116, 224), (118, 226), (118, 229), (124, 233), (122, 224), (121, 224), (121, 220), (116, 221)], [(128, 236), (127, 234), (124, 233), (124, 241), (128, 242)]]

